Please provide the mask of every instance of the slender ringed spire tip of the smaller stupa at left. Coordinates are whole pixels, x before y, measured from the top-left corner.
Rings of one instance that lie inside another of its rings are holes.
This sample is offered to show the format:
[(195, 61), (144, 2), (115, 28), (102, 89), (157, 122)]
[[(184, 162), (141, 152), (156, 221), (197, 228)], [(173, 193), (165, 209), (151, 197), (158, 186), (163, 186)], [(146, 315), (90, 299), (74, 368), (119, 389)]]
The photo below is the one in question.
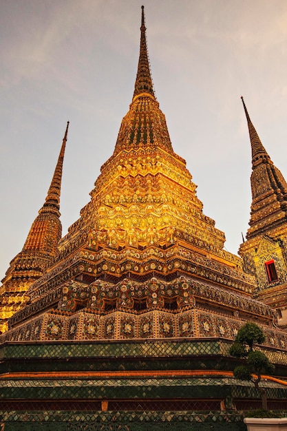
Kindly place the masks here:
[(67, 121), (67, 127), (65, 130), (65, 135), (63, 137), (63, 143), (61, 146), (61, 151), (59, 154), (59, 158), (56, 164), (56, 168), (54, 171), (54, 175), (52, 178), (52, 182), (50, 188), (47, 192), (47, 198), (45, 199), (45, 204), (40, 211), (45, 209), (46, 207), (54, 207), (59, 211), (60, 209), (60, 194), (61, 194), (61, 182), (62, 182), (62, 172), (63, 172), (63, 160), (65, 155), (65, 146), (67, 142), (67, 132), (69, 129), (70, 121)]

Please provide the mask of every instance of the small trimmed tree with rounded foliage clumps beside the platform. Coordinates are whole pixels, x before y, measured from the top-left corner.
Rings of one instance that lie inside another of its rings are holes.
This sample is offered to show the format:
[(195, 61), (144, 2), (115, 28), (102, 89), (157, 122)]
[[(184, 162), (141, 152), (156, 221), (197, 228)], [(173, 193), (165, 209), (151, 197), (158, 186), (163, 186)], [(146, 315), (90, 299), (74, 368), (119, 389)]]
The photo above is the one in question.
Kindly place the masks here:
[(254, 344), (262, 344), (265, 335), (259, 326), (246, 323), (237, 333), (235, 342), (229, 349), (231, 356), (245, 359), (245, 364), (237, 366), (233, 370), (235, 379), (252, 381), (259, 390), (262, 399), (262, 408), (267, 410), (266, 390), (259, 386), (262, 374), (272, 374), (275, 366), (270, 363), (268, 357), (259, 350), (253, 350)]

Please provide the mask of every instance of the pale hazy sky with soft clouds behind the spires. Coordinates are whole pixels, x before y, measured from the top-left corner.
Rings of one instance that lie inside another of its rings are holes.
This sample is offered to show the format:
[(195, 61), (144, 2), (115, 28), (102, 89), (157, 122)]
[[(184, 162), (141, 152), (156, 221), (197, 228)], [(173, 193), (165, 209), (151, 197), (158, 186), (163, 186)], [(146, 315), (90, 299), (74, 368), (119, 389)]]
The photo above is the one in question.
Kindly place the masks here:
[(173, 149), (228, 251), (251, 206), (241, 95), (287, 178), (286, 0), (2, 0), (0, 278), (45, 200), (67, 120), (63, 234), (89, 201), (134, 92), (141, 4)]

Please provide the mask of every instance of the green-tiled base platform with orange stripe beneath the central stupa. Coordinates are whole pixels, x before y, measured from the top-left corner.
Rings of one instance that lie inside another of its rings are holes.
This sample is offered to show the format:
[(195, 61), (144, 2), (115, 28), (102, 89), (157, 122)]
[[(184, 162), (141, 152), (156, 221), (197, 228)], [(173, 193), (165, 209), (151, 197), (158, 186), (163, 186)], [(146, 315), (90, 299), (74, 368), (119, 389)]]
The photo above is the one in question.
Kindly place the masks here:
[[(227, 339), (6, 342), (0, 346), (3, 430), (180, 431), (246, 428), (253, 383), (233, 378)], [(284, 350), (264, 350), (269, 408), (284, 412)]]

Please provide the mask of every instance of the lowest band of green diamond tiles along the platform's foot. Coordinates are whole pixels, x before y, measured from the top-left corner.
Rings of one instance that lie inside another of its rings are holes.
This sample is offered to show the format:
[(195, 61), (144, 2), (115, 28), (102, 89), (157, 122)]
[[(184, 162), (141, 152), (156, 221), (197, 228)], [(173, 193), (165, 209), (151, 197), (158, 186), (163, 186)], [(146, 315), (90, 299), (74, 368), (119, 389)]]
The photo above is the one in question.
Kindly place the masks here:
[(5, 431), (246, 431), (241, 414), (209, 411), (9, 412)]

